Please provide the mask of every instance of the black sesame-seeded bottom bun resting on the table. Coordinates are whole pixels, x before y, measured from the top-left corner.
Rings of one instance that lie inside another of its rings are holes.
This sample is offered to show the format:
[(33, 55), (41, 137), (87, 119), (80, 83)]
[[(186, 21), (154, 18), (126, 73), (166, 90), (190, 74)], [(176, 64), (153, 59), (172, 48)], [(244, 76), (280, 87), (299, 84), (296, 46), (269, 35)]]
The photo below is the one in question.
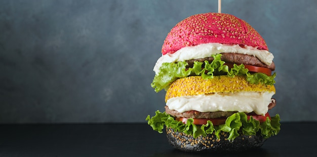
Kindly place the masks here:
[(220, 133), (220, 139), (217, 140), (216, 135), (207, 134), (206, 137), (199, 136), (194, 138), (192, 135), (186, 135), (182, 132), (175, 132), (171, 128), (166, 128), (167, 138), (169, 143), (176, 149), (187, 152), (233, 152), (244, 151), (252, 148), (257, 148), (263, 145), (266, 140), (261, 135), (242, 135), (236, 137), (233, 141), (229, 141), (229, 136), (226, 132)]

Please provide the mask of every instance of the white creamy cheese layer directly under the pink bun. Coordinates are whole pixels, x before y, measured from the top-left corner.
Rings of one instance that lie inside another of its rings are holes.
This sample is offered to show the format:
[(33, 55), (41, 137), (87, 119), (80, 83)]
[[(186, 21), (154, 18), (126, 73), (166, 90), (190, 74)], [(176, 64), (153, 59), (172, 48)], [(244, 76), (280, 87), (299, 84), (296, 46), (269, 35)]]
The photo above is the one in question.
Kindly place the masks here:
[(174, 63), (191, 59), (206, 58), (213, 54), (219, 53), (237, 53), (255, 56), (266, 65), (270, 65), (274, 58), (270, 52), (266, 50), (258, 50), (257, 48), (251, 46), (241, 47), (240, 45), (207, 43), (191, 47), (184, 47), (173, 54), (163, 55), (157, 60), (153, 70), (155, 73), (159, 73), (160, 67), (163, 63)]

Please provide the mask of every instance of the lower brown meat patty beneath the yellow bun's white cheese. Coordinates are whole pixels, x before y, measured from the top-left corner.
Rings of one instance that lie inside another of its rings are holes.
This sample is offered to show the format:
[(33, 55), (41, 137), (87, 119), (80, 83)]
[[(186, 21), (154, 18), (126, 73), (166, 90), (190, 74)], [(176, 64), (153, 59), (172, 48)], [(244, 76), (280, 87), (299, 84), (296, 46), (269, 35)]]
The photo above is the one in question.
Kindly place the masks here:
[[(275, 99), (271, 99), (271, 103), (268, 105), (268, 109), (272, 109), (275, 107), (276, 101)], [(170, 110), (168, 106), (165, 106), (165, 112), (174, 117), (187, 117), (192, 119), (215, 119), (218, 117), (228, 117), (235, 113), (236, 111), (216, 111), (216, 112), (200, 112), (200, 111), (186, 111), (186, 112), (178, 112), (176, 110)]]

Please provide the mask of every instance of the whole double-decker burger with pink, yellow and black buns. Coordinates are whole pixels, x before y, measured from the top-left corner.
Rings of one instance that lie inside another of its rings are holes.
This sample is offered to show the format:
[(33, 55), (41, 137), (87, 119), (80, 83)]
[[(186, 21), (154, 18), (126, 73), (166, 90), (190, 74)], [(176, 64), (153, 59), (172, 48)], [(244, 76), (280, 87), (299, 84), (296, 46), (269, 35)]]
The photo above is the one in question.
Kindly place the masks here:
[(146, 117), (169, 143), (190, 152), (260, 147), (280, 131), (273, 55), (261, 35), (230, 14), (203, 13), (168, 33), (151, 87), (166, 91), (165, 111)]

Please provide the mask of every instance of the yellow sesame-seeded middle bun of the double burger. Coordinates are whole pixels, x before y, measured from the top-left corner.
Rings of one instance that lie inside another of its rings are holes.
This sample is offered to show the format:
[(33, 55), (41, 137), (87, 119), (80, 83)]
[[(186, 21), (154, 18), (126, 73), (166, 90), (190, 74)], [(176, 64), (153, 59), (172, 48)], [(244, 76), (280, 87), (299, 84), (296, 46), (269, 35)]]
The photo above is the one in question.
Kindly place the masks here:
[(193, 96), (211, 93), (229, 92), (274, 92), (275, 87), (263, 84), (249, 84), (245, 76), (214, 76), (204, 79), (202, 76), (189, 76), (174, 81), (166, 92), (165, 101), (173, 97)]

